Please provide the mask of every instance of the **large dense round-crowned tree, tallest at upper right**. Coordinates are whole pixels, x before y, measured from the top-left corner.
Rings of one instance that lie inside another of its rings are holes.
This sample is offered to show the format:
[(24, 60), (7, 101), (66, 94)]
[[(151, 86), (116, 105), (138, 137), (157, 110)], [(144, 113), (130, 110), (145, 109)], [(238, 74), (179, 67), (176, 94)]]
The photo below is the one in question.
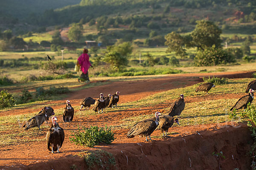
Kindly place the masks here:
[(191, 33), (192, 44), (198, 49), (204, 50), (206, 47), (216, 48), (221, 46), (221, 29), (212, 21), (198, 20), (197, 25)]

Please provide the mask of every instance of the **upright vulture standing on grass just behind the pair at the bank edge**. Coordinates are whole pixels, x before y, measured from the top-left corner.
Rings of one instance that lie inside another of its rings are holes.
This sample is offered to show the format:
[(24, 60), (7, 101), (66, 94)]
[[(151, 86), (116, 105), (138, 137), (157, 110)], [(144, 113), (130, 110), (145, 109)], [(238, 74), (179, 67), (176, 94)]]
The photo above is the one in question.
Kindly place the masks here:
[(175, 102), (172, 103), (170, 109), (169, 109), (169, 116), (180, 116), (180, 113), (185, 108), (185, 102), (184, 102), (184, 95), (180, 94), (179, 99), (177, 99)]

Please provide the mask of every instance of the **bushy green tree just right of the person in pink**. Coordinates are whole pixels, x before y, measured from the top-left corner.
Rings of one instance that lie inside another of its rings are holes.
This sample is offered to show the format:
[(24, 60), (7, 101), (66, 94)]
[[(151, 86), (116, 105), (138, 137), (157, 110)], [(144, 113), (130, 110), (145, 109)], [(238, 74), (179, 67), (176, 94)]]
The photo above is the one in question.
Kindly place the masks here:
[(114, 71), (121, 71), (128, 64), (126, 57), (121, 56), (116, 51), (108, 52), (104, 61), (109, 63)]

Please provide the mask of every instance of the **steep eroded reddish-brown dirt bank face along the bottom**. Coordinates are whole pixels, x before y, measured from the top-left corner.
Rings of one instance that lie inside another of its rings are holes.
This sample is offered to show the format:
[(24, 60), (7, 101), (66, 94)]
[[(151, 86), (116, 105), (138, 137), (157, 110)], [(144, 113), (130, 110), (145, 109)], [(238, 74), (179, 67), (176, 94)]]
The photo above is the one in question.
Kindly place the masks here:
[[(250, 169), (250, 150), (253, 140), (247, 125), (225, 126), (219, 130), (201, 131), (189, 136), (173, 139), (111, 144), (102, 147), (113, 153), (116, 166), (97, 165), (92, 169), (113, 170), (218, 170), (218, 163), (212, 153), (223, 152), (226, 159), (221, 159), (223, 170)], [(107, 160), (107, 159), (106, 159)], [(87, 169), (84, 159), (67, 156), (47, 163), (30, 164), (23, 167), (29, 170), (54, 169), (65, 170), (76, 165), (76, 169)]]

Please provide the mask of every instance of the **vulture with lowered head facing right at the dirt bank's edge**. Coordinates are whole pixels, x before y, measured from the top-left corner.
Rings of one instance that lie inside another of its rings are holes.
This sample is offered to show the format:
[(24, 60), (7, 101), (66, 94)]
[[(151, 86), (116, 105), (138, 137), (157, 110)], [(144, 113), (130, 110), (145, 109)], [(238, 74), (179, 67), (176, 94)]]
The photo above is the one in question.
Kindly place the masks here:
[(167, 132), (168, 132), (169, 127), (172, 127), (174, 122), (177, 123), (178, 125), (180, 125), (178, 118), (174, 118), (169, 115), (159, 116), (159, 125), (158, 125), (157, 129), (160, 129), (161, 133), (165, 132), (165, 135), (163, 133), (163, 137), (170, 137), (170, 136), (167, 136)]

